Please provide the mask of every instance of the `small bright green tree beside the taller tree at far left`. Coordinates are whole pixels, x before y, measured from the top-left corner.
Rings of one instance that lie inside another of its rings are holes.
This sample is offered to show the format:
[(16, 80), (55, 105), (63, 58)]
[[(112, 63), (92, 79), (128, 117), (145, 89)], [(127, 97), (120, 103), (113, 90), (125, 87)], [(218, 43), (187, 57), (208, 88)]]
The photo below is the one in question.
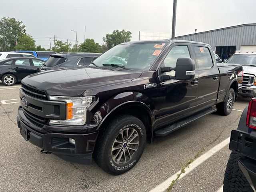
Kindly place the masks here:
[(18, 36), (18, 45), (14, 48), (16, 50), (27, 50), (27, 51), (34, 51), (36, 50), (35, 40), (27, 34), (22, 34)]

